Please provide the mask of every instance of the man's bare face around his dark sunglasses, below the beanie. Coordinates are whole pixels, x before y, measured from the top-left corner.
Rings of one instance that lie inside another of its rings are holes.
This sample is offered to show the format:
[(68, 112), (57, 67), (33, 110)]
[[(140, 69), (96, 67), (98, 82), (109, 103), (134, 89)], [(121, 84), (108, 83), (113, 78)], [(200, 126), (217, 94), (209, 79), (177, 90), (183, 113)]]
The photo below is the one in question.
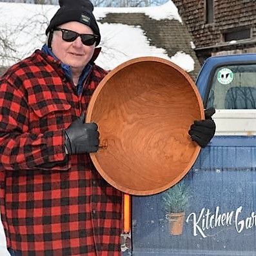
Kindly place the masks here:
[[(64, 23), (58, 28), (72, 30), (79, 34), (94, 34), (89, 26), (71, 21)], [(64, 64), (70, 65), (75, 70), (83, 70), (94, 54), (95, 43), (86, 46), (82, 43), (81, 37), (77, 37), (73, 42), (66, 42), (62, 39), (61, 31), (54, 31), (52, 38), (52, 52)]]

